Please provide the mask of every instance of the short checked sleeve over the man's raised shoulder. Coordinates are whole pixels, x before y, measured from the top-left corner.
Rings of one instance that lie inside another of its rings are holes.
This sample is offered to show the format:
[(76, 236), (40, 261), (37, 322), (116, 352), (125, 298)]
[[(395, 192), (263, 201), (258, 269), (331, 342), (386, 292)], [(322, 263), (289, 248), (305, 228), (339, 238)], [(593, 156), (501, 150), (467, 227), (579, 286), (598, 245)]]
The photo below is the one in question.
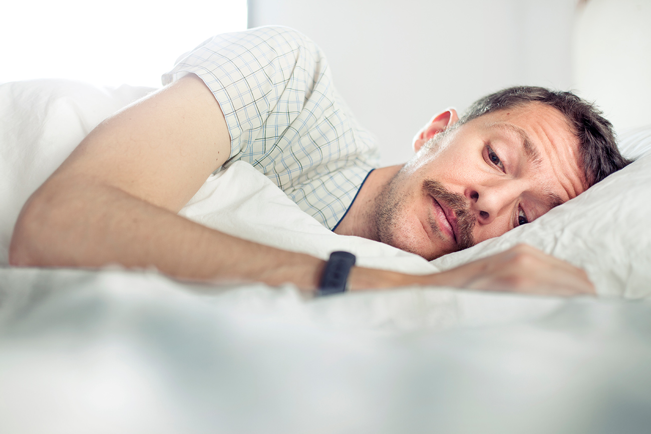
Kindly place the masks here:
[(163, 85), (189, 72), (201, 77), (224, 113), (234, 157), (247, 152), (266, 122), (289, 124), (300, 113), (319, 61), (319, 50), (298, 31), (261, 27), (206, 40), (163, 75)]

